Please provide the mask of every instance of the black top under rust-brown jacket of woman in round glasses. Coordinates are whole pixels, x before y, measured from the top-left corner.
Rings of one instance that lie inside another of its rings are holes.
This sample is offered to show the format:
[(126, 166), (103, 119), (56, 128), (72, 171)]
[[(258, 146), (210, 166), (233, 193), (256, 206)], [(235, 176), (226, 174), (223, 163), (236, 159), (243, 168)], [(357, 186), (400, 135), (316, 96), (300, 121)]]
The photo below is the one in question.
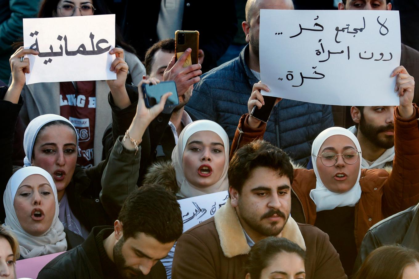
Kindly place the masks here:
[(330, 242), (339, 253), (342, 266), (349, 277), (357, 258), (355, 207), (336, 207), (319, 211), (314, 225), (329, 235)]

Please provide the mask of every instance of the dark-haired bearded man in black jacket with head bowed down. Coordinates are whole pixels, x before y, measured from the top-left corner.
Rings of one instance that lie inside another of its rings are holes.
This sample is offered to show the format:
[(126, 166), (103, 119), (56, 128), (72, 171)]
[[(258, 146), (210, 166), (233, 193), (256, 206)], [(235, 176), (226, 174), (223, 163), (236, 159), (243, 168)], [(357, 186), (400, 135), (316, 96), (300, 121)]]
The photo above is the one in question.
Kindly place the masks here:
[(142, 186), (127, 197), (114, 227), (93, 227), (82, 244), (50, 261), (37, 278), (166, 278), (160, 259), (182, 230), (176, 198), (161, 186)]

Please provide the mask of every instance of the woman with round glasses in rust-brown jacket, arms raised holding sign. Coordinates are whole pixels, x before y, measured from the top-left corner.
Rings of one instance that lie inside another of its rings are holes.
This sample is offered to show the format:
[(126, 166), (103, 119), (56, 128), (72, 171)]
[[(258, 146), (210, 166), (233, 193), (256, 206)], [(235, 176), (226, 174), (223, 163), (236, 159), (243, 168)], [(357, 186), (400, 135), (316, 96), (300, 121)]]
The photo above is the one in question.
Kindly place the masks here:
[[(347, 275), (352, 273), (357, 249), (367, 230), (385, 217), (413, 206), (419, 198), (419, 113), (412, 106), (414, 79), (403, 66), (397, 67), (392, 77), (396, 78), (400, 105), (394, 110), (396, 153), (391, 173), (361, 169), (360, 144), (352, 132), (340, 127), (328, 128), (314, 140), (313, 170), (294, 170), (292, 217), (329, 235)], [(263, 84), (253, 86), (249, 111), (253, 106), (262, 106), (261, 89), (269, 90)], [(266, 124), (243, 115), (232, 152), (255, 138), (261, 139), (265, 129)]]

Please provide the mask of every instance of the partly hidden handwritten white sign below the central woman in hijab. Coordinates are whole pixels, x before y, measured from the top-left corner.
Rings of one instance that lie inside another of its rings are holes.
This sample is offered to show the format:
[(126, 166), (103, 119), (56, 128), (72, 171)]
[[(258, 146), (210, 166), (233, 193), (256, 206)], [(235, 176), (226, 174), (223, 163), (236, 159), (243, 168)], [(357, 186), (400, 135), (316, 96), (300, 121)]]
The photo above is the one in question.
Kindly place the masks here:
[[(222, 191), (179, 200), (178, 203), (181, 205), (184, 232), (214, 216), (215, 212), (225, 204), (228, 197), (228, 191)], [(168, 279), (172, 276), (172, 262), (175, 248), (176, 243), (171, 248), (167, 257), (161, 260), (166, 269)]]

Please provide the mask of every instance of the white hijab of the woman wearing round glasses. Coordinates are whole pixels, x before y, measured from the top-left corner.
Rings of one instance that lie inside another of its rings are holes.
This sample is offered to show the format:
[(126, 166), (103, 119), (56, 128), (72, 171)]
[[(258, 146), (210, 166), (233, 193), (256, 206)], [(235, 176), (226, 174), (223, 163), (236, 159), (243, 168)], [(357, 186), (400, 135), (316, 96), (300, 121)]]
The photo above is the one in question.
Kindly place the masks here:
[[(359, 202), (361, 198), (361, 186), (360, 186), (360, 176), (361, 176), (361, 164), (360, 164), (360, 170), (358, 172), (358, 178), (355, 185), (347, 192), (344, 193), (335, 193), (330, 191), (329, 189), (324, 186), (323, 182), (321, 181), (320, 175), (318, 173), (317, 159), (320, 160), (320, 158), (316, 157), (315, 155), (318, 154), (320, 151), (321, 145), (323, 145), (323, 142), (325, 142), (329, 137), (334, 136), (336, 134), (344, 135), (346, 137), (349, 137), (350, 140), (354, 143), (355, 147), (357, 147), (357, 150), (361, 152), (361, 146), (360, 143), (357, 140), (357, 137), (355, 137), (352, 132), (348, 131), (347, 129), (341, 128), (341, 127), (331, 127), (316, 137), (316, 139), (313, 142), (313, 146), (311, 147), (311, 158), (313, 160), (313, 169), (314, 173), (316, 174), (316, 189), (313, 189), (310, 191), (310, 198), (313, 200), (313, 202), (316, 204), (316, 212), (323, 211), (323, 210), (330, 210), (334, 209), (336, 207), (354, 207), (357, 202)], [(360, 154), (360, 157), (362, 154)], [(330, 167), (333, 168), (333, 167)]]

